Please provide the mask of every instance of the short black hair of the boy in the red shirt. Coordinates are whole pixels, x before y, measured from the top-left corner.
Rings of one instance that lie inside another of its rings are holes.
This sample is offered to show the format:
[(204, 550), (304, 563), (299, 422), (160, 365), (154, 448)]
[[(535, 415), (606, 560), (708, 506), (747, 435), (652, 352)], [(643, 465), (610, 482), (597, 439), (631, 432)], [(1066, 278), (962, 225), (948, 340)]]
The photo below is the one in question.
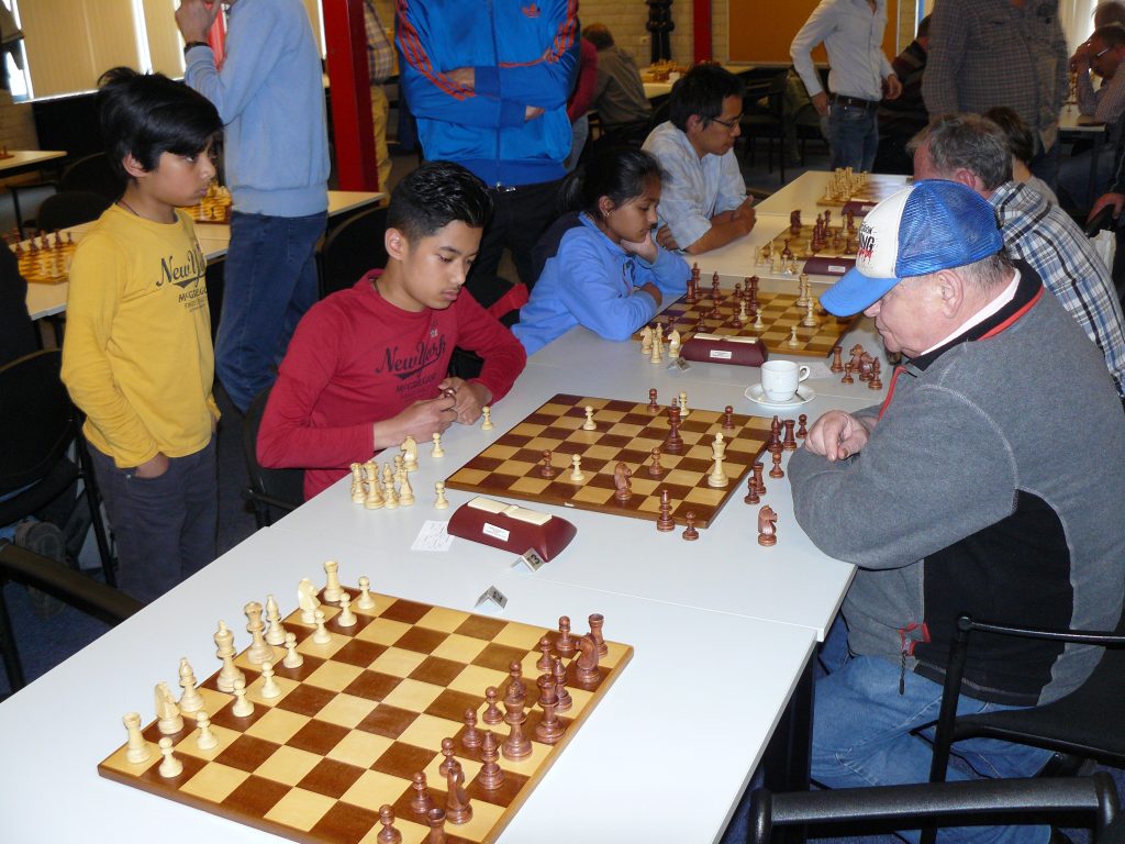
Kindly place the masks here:
[(484, 228), (490, 216), (492, 198), (480, 179), (451, 161), (428, 161), (392, 191), (387, 227), (408, 239), (429, 237), (454, 219)]

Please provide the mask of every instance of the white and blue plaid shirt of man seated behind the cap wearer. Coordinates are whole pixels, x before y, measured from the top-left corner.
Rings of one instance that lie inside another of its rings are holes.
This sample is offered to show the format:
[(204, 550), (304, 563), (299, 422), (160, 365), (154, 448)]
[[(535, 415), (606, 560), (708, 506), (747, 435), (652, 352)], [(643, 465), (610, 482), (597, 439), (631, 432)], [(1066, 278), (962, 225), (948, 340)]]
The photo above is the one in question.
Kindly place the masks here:
[(1027, 261), (1106, 358), (1125, 396), (1125, 327), (1106, 264), (1058, 205), (1009, 181), (989, 197), (1011, 258)]

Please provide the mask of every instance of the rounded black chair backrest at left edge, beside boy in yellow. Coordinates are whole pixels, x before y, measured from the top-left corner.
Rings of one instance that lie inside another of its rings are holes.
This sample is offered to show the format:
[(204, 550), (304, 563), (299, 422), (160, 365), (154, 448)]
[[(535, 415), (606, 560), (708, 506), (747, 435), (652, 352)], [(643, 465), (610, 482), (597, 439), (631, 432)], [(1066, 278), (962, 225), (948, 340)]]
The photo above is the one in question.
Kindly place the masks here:
[(0, 495), (43, 478), (74, 439), (74, 405), (57, 349), (0, 367)]

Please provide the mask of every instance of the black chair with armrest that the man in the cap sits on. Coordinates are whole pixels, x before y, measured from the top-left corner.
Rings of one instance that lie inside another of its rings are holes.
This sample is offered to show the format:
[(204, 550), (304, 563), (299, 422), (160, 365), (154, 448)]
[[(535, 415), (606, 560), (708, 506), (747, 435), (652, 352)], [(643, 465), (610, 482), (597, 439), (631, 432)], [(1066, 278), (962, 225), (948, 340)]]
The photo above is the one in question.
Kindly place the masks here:
[[(1096, 645), (1105, 648), (1094, 673), (1064, 698), (1042, 707), (1012, 709), (986, 715), (956, 717), (969, 654), (971, 632), (1047, 639), (1056, 643)], [(951, 746), (963, 738), (989, 737), (1027, 744), (1069, 754), (1081, 760), (1095, 760), (1117, 767), (1125, 766), (1125, 728), (1120, 713), (1110, 701), (1118, 700), (1125, 689), (1125, 613), (1114, 632), (1083, 630), (1040, 630), (1008, 625), (974, 621), (969, 616), (957, 619), (957, 630), (950, 646), (950, 662), (942, 692), (942, 709), (934, 736), (934, 760), (930, 782), (945, 780)]]

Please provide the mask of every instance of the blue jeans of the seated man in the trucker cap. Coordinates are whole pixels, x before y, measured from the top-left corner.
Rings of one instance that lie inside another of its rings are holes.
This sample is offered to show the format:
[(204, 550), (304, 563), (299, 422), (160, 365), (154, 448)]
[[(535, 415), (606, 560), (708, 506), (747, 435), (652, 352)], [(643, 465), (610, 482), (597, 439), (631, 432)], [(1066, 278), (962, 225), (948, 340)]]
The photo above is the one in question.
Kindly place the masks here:
[[(926, 782), (933, 746), (911, 730), (937, 719), (942, 686), (908, 671), (899, 694), (899, 666), (874, 656), (852, 656), (840, 646), (847, 629), (837, 622), (829, 631), (821, 664), (829, 672), (817, 680), (812, 713), (812, 779), (828, 788), (860, 788)], [(1014, 707), (986, 703), (961, 695), (958, 715), (993, 712)], [(933, 737), (933, 730), (927, 730)], [(957, 742), (960, 760), (981, 776), (1033, 776), (1051, 757), (1050, 751), (989, 738)], [(970, 774), (951, 765), (947, 780)], [(1045, 826), (974, 826), (942, 830), (942, 842), (1038, 844), (1050, 837)], [(900, 833), (910, 842), (917, 829)]]

